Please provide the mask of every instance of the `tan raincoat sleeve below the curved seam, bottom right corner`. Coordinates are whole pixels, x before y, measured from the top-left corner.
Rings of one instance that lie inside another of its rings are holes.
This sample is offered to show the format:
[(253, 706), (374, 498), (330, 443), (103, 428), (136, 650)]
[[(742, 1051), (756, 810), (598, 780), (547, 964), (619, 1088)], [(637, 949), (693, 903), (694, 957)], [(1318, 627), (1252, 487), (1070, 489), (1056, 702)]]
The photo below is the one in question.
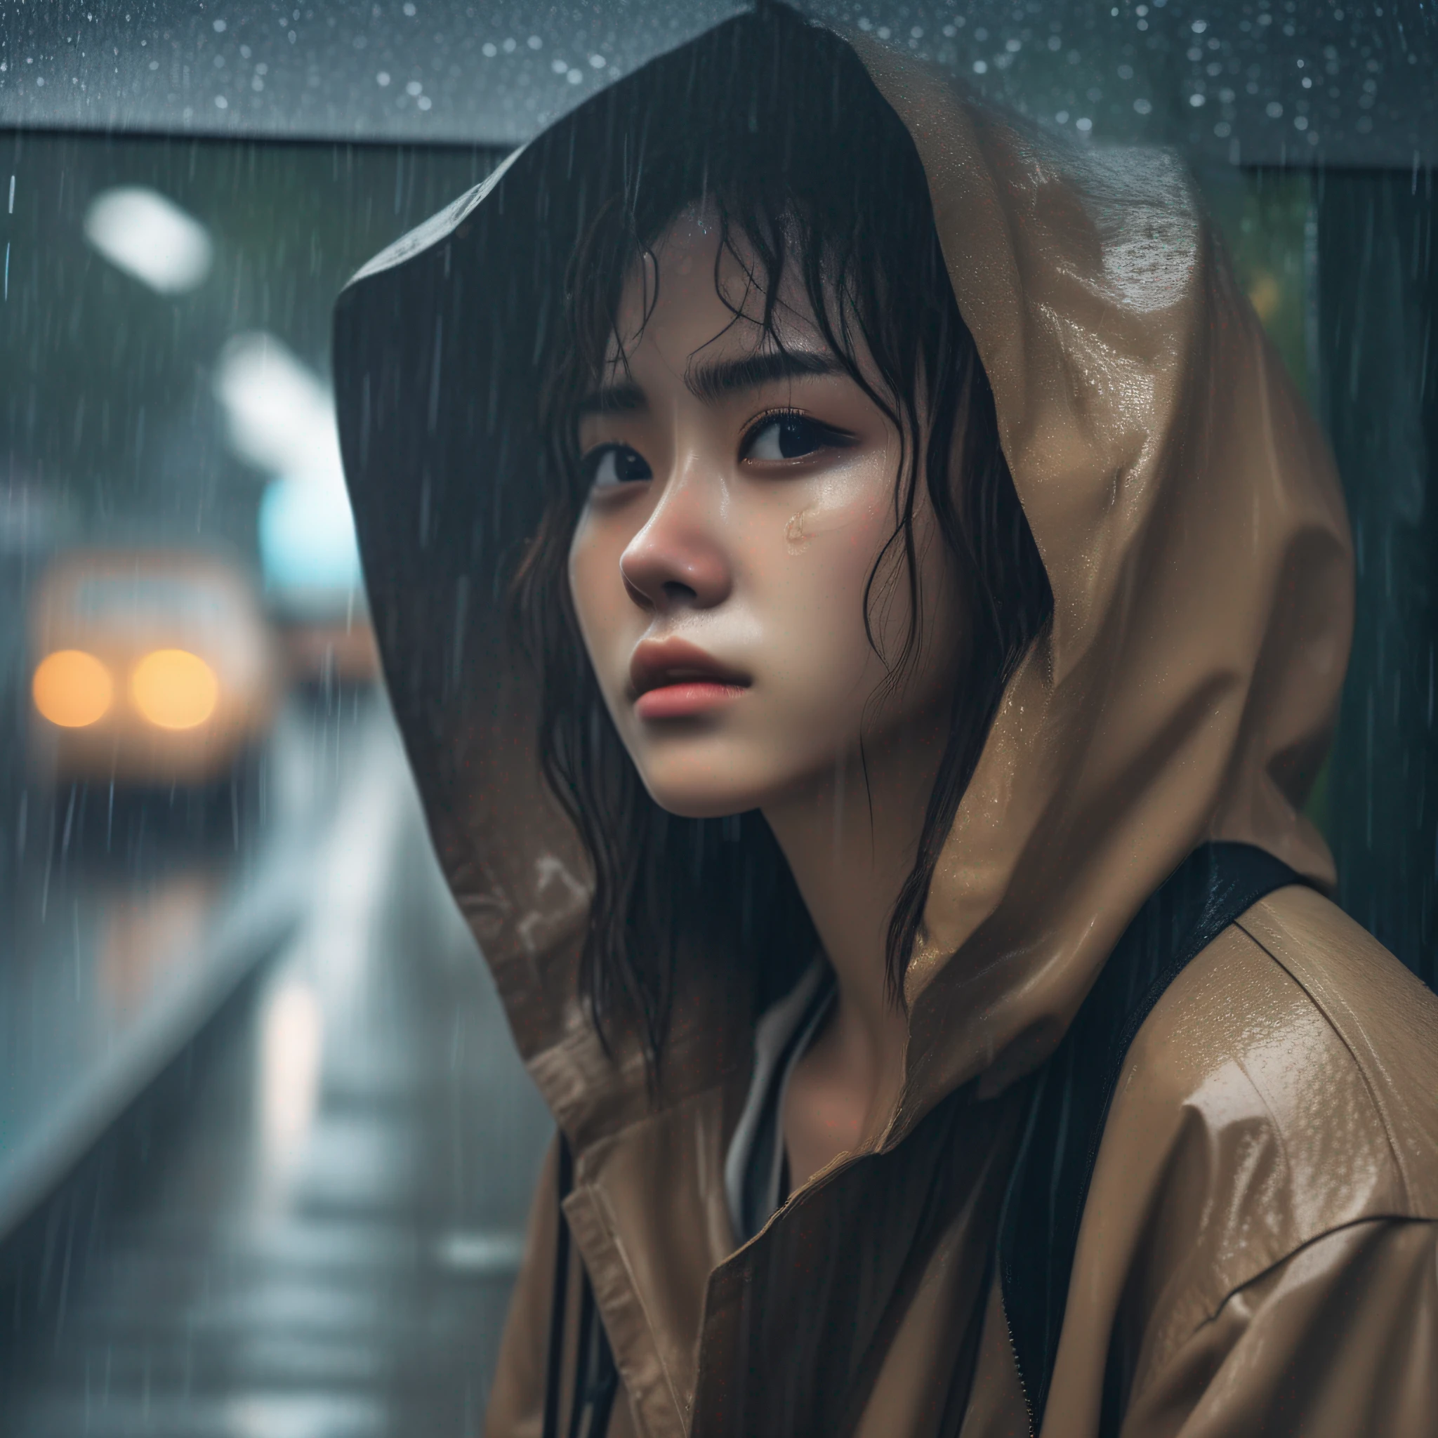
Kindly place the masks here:
[(1352, 1224), (1231, 1293), (1133, 1392), (1120, 1434), (1438, 1434), (1438, 1222)]

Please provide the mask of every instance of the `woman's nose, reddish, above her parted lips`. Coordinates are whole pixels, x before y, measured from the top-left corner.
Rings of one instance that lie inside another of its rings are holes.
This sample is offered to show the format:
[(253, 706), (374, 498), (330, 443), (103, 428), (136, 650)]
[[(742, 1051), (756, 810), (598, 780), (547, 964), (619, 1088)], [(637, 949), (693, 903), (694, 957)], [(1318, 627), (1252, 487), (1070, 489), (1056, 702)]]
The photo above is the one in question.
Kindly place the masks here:
[(707, 610), (722, 604), (733, 572), (703, 477), (676, 475), (644, 528), (620, 555), (630, 598), (644, 610)]

